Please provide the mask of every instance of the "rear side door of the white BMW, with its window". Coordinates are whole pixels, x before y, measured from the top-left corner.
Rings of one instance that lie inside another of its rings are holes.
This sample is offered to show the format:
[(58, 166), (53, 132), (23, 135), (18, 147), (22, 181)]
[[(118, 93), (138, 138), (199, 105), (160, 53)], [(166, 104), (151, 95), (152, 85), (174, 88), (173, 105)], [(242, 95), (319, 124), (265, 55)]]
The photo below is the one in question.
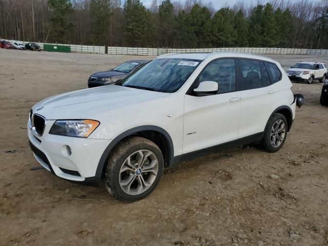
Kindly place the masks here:
[(281, 73), (276, 65), (268, 63), (265, 66), (260, 60), (238, 59), (238, 62), (241, 76), (238, 134), (239, 138), (243, 138), (263, 132), (270, 115), (281, 103), (279, 88), (276, 84), (271, 84), (268, 70), (273, 70), (275, 80), (279, 80)]

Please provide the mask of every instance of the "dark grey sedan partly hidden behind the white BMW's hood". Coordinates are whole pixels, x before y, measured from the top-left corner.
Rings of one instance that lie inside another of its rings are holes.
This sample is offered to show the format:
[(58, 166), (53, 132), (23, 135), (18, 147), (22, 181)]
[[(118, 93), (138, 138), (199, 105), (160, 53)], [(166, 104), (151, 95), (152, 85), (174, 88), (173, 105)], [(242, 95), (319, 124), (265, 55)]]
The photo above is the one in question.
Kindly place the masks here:
[(148, 63), (148, 60), (129, 60), (112, 70), (94, 73), (88, 79), (88, 87), (92, 88), (118, 83), (146, 63)]

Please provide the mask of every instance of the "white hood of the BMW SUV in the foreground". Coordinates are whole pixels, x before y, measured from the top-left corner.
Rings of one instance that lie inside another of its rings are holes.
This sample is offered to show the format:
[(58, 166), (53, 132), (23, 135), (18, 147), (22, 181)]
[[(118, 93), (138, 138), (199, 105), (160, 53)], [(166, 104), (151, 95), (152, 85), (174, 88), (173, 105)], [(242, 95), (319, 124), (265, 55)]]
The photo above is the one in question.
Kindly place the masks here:
[(49, 97), (32, 107), (46, 119), (97, 119), (111, 110), (169, 95), (116, 85), (68, 92)]

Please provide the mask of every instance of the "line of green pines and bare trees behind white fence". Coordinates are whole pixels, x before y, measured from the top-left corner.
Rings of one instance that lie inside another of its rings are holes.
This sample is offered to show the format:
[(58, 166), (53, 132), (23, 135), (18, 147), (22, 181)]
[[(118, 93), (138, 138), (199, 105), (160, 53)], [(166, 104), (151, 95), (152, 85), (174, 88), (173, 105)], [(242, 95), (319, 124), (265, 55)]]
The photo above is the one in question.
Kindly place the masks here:
[(0, 38), (129, 47), (328, 48), (328, 0), (0, 0)]

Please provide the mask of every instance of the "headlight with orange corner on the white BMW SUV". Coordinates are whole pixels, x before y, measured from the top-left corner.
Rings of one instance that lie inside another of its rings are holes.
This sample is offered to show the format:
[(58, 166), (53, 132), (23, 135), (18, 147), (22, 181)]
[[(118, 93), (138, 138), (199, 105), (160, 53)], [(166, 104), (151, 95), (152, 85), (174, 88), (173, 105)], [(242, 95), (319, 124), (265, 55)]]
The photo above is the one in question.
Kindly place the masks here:
[(56, 120), (49, 133), (70, 137), (88, 137), (99, 124), (99, 121), (91, 119)]

